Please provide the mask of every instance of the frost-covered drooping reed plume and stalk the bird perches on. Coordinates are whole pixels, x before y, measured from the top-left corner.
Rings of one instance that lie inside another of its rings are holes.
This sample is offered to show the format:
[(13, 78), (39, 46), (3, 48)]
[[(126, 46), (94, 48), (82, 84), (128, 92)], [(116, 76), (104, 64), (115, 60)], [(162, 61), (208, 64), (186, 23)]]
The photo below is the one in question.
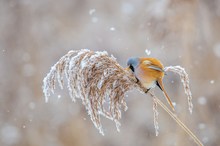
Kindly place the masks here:
[[(186, 72), (180, 67), (167, 67), (166, 71), (179, 73), (184, 79), (184, 89), (191, 102), (191, 92)], [(177, 71), (178, 69), (178, 71)], [(181, 72), (181, 73), (180, 73)], [(146, 89), (136, 82), (133, 74), (124, 70), (116, 59), (108, 56), (107, 52), (93, 52), (87, 49), (80, 51), (70, 51), (63, 56), (43, 80), (43, 92), (45, 100), (51, 93), (54, 93), (56, 81), (63, 89), (64, 77), (67, 80), (67, 87), (73, 101), (76, 98), (82, 100), (83, 105), (99, 132), (104, 135), (100, 116), (104, 116), (115, 122), (119, 131), (121, 109), (126, 111), (125, 102), (126, 92), (137, 89), (144, 93)], [(186, 89), (187, 88), (187, 89)], [(195, 140), (198, 145), (202, 145), (198, 138), (162, 103), (150, 92), (153, 97), (154, 105), (154, 126), (158, 135), (158, 111), (157, 103)], [(192, 105), (190, 104), (190, 107)], [(191, 108), (192, 109), (192, 108)], [(174, 118), (175, 117), (175, 118)]]

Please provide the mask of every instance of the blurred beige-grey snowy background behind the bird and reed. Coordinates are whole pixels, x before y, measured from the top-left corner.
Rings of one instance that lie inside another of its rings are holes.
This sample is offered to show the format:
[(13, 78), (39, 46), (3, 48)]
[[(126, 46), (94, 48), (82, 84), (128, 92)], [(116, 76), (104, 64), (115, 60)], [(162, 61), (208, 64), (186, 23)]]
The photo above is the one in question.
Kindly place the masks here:
[(192, 115), (179, 77), (164, 79), (176, 114), (204, 145), (220, 145), (220, 0), (0, 0), (1, 146), (196, 145), (161, 108), (156, 137), (152, 99), (138, 91), (128, 94), (121, 132), (102, 118), (105, 136), (67, 90), (57, 88), (45, 103), (50, 67), (83, 48), (106, 50), (122, 66), (131, 56), (150, 56), (184, 67)]

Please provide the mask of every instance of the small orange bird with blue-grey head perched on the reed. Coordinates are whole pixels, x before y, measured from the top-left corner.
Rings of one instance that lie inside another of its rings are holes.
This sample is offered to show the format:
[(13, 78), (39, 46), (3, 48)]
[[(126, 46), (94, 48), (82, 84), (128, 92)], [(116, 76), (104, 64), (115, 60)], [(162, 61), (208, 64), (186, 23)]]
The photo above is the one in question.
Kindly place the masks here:
[(165, 75), (164, 67), (158, 59), (131, 57), (127, 61), (126, 70), (132, 71), (137, 79), (137, 82), (140, 82), (141, 85), (147, 89), (145, 93), (158, 86), (174, 111), (173, 103), (168, 96), (162, 81)]

